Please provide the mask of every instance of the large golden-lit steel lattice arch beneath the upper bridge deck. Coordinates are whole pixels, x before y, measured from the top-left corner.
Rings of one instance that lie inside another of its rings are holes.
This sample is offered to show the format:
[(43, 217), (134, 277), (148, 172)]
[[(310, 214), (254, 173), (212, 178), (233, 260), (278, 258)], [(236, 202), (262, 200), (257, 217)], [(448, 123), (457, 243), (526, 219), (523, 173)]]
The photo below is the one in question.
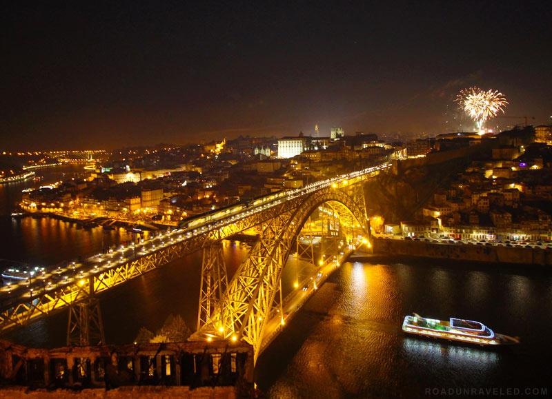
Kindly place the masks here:
[(368, 234), (362, 185), (358, 186), (356, 190), (333, 187), (318, 190), (294, 207), (283, 208), (277, 217), (268, 221), (259, 241), (228, 283), (217, 311), (197, 331), (195, 338), (246, 340), (253, 345), (256, 359), (263, 349), (265, 328), (293, 242), (315, 209), (328, 203), (340, 221), (355, 223), (359, 231)]

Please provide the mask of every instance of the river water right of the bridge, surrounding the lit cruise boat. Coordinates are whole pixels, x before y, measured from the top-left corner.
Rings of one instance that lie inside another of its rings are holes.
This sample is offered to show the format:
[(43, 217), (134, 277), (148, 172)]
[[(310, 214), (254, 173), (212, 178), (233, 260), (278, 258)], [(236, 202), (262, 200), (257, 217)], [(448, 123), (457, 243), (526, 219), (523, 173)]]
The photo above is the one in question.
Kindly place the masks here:
[[(345, 263), (259, 358), (273, 398), (424, 397), (432, 387), (546, 387), (552, 277), (496, 265)], [(531, 288), (529, 288), (531, 287)], [(504, 299), (502, 299), (504, 298)], [(510, 304), (506, 305), (505, 304)], [(511, 307), (508, 307), (511, 306)], [(480, 320), (521, 336), (508, 348), (406, 336), (405, 314)]]

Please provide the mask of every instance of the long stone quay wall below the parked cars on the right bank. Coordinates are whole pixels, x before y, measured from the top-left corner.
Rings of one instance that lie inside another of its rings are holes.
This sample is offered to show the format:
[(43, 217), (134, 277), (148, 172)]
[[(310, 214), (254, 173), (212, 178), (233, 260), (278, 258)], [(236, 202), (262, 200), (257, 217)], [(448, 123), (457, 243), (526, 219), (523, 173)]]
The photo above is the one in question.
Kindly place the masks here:
[(542, 248), (520, 248), (487, 245), (450, 245), (425, 241), (388, 240), (373, 238), (373, 253), (423, 258), (468, 260), (483, 263), (513, 263), (524, 265), (552, 265), (552, 251)]

